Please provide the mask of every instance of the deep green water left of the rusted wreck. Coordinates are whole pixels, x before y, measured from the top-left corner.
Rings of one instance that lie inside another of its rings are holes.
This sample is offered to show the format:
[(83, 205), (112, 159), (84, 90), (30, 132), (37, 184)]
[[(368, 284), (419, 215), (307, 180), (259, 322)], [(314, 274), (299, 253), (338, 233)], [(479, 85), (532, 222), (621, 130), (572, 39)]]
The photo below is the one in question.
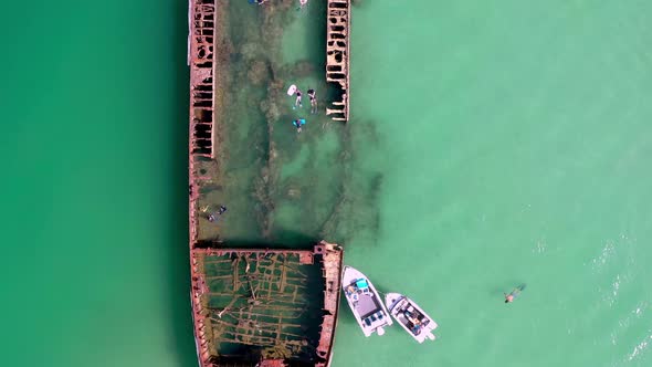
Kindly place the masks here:
[(186, 12), (3, 4), (0, 365), (196, 364)]

